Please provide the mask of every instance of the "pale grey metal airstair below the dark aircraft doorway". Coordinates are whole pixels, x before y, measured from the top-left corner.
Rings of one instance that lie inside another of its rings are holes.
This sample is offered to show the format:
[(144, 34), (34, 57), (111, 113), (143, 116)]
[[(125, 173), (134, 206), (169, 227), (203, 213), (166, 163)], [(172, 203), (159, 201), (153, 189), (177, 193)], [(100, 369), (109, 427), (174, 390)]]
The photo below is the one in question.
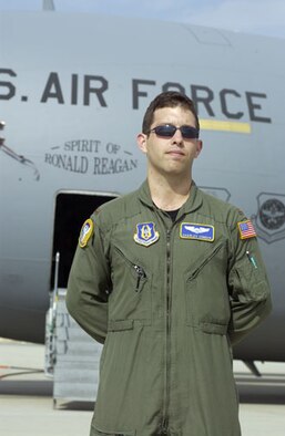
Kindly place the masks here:
[(59, 401), (94, 402), (102, 345), (89, 336), (65, 307), (65, 289), (55, 283), (45, 322), (45, 375), (53, 378), (53, 406)]

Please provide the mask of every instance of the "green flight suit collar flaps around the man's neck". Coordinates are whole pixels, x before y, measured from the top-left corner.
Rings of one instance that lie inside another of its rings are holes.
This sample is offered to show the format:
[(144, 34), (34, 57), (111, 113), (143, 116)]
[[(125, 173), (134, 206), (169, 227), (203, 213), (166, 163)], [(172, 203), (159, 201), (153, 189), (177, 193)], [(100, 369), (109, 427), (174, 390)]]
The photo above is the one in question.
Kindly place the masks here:
[[(147, 179), (139, 188), (139, 199), (147, 207), (152, 209), (154, 208)], [(193, 180), (191, 185), (189, 199), (181, 207), (179, 215), (189, 214), (199, 209), (202, 206), (202, 203), (203, 203), (202, 191), (197, 188), (195, 181)]]

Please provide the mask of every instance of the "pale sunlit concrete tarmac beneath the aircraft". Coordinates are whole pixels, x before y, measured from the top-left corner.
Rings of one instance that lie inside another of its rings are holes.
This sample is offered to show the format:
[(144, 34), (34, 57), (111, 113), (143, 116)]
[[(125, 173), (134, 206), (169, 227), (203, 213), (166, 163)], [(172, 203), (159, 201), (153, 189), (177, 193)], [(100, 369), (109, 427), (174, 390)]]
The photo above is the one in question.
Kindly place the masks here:
[[(0, 339), (0, 436), (89, 436), (93, 403), (53, 407), (44, 346)], [(285, 363), (257, 363), (262, 377), (234, 362), (243, 436), (285, 435)]]

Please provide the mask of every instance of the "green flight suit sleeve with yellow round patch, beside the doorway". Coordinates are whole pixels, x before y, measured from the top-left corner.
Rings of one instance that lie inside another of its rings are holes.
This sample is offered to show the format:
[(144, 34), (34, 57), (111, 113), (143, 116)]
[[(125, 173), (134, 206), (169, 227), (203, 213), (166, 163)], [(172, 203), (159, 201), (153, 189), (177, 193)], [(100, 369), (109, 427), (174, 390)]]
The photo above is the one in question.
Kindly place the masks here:
[[(69, 276), (67, 308), (86, 333), (104, 343), (108, 330), (108, 294), (111, 289), (110, 268), (99, 219), (93, 215), (88, 221), (92, 232), (80, 236)], [(83, 228), (84, 225), (81, 233)]]

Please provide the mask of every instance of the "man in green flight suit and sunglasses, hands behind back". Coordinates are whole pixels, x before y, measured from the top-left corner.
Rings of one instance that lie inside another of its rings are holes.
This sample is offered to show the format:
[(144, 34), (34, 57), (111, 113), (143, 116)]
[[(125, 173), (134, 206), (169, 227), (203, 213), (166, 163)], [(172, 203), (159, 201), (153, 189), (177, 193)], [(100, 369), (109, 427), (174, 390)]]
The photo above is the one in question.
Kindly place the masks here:
[(252, 222), (201, 191), (192, 101), (149, 106), (147, 179), (85, 221), (67, 294), (104, 343), (91, 436), (240, 436), (232, 345), (271, 310)]

